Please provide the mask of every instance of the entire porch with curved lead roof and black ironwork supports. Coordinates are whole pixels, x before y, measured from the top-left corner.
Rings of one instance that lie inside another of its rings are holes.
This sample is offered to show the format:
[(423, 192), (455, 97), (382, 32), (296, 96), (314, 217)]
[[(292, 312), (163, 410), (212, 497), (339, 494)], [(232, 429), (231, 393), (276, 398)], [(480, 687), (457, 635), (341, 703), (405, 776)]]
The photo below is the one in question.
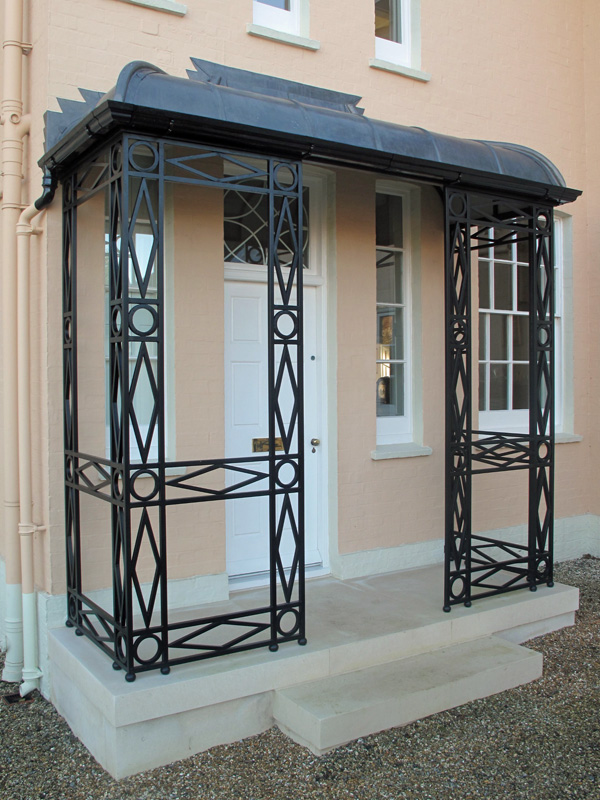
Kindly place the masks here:
[[(356, 96), (198, 59), (192, 63), (185, 79), (133, 62), (107, 94), (81, 90), (81, 102), (59, 100), (62, 111), (46, 115), (40, 165), (63, 183), (67, 624), (109, 654), (128, 680), (145, 670), (160, 667), (167, 673), (174, 664), (238, 650), (306, 643), (303, 161), (368, 169), (440, 188), (446, 287), (444, 609), (470, 605), (475, 597), (551, 585), (552, 210), (580, 193), (565, 185), (547, 158), (528, 148), (372, 120), (358, 108)], [(226, 162), (228, 172), (219, 167)], [(167, 457), (164, 197), (167, 184), (176, 182), (234, 187), (268, 207), (268, 451), (253, 451), (251, 457), (201, 454), (200, 460), (178, 462)], [(101, 202), (90, 203), (94, 198)], [(81, 236), (86, 224), (97, 236), (93, 258)], [(144, 247), (136, 238), (142, 228)], [(102, 373), (98, 394), (106, 396), (109, 407), (106, 440), (104, 420), (99, 420), (100, 435), (87, 451), (80, 447), (78, 417), (86, 340), (83, 316), (78, 331), (78, 241), (85, 255), (80, 278), (104, 269), (98, 286), (106, 291), (98, 295), (106, 319), (96, 329), (104, 326), (108, 340), (108, 356), (100, 347), (96, 369)], [(529, 266), (524, 273), (526, 434), (477, 431), (472, 425), (471, 254), (506, 245), (518, 246), (521, 266)], [(142, 383), (149, 404), (144, 419)], [(472, 534), (472, 476), (513, 470), (528, 473), (527, 542)], [(269, 503), (268, 603), (170, 621), (167, 511), (251, 497)], [(90, 597), (82, 574), (80, 501), (89, 498), (110, 504), (111, 608)], [(284, 530), (293, 539), (289, 562), (281, 549)], [(146, 586), (144, 576), (150, 577)]]

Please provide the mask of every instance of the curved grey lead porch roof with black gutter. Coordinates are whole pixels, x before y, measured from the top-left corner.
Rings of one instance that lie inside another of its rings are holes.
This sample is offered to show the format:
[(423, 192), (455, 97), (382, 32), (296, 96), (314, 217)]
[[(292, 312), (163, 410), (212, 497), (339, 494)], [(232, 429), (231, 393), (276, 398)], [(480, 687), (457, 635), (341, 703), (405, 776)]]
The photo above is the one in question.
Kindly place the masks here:
[(460, 139), (371, 119), (360, 97), (192, 59), (187, 78), (141, 61), (105, 95), (80, 90), (46, 115), (40, 165), (59, 174), (99, 138), (127, 129), (288, 154), (474, 188), (574, 200), (556, 166), (517, 144)]

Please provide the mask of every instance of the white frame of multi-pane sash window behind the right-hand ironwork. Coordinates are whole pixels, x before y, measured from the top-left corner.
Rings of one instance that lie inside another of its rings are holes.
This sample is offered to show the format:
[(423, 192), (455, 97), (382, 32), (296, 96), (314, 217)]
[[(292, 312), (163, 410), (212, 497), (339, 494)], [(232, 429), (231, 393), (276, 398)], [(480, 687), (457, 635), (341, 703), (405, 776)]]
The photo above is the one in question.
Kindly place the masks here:
[[(565, 273), (566, 263), (568, 260), (567, 243), (565, 236), (565, 228), (567, 227), (568, 215), (561, 212), (554, 212), (554, 429), (555, 432), (562, 432), (564, 425), (564, 395), (566, 390), (566, 375), (565, 375)], [(487, 259), (486, 261), (493, 261)], [(477, 256), (479, 261), (479, 256)], [(520, 262), (519, 262), (520, 263)], [(479, 270), (477, 270), (479, 274)], [(513, 285), (513, 292), (515, 287)], [(490, 293), (493, 292), (493, 287), (490, 285)], [(478, 303), (479, 313), (485, 313), (486, 309), (481, 308), (481, 303)], [(497, 313), (497, 312), (495, 312)], [(503, 312), (500, 312), (503, 313)], [(514, 312), (506, 311), (506, 314), (513, 316)], [(528, 316), (528, 315), (527, 315)], [(481, 334), (478, 317), (478, 336)], [(486, 333), (489, 334), (489, 326), (486, 326)], [(509, 360), (512, 353), (512, 341), (509, 342)], [(489, 351), (489, 348), (488, 348)], [(481, 361), (477, 356), (477, 364)], [(477, 383), (479, 383), (479, 367), (477, 369)], [(488, 392), (490, 389), (488, 379)], [(510, 395), (510, 390), (509, 390)], [(474, 393), (474, 397), (479, 397), (479, 392)], [(478, 402), (478, 401), (477, 401)], [(479, 403), (478, 403), (479, 405)], [(497, 411), (482, 411), (479, 410), (478, 429), (482, 431), (501, 431), (503, 433), (527, 433), (529, 431), (529, 408), (524, 409), (507, 409)]]

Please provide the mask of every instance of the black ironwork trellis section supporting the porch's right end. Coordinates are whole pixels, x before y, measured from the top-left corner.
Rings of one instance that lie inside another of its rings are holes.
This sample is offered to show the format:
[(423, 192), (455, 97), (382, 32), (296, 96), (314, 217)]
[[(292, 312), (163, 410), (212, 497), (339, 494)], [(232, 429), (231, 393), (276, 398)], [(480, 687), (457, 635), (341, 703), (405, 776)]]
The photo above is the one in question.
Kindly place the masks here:
[[(446, 538), (444, 610), (540, 583), (552, 585), (554, 267), (552, 208), (445, 190)], [(472, 429), (471, 255), (518, 244), (528, 255), (529, 431)], [(472, 479), (528, 470), (526, 543), (471, 531)]]

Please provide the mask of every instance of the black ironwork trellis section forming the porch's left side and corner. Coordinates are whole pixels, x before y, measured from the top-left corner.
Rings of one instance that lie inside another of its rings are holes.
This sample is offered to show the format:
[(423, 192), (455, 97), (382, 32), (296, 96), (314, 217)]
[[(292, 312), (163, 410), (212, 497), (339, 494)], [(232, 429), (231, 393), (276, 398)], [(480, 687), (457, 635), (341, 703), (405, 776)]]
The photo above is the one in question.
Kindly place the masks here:
[[(170, 182), (235, 191), (267, 209), (269, 449), (252, 457), (166, 459), (164, 196)], [(107, 207), (109, 452), (82, 453), (77, 438), (76, 212), (101, 191)], [(145, 670), (167, 673), (174, 664), (237, 650), (305, 643), (300, 163), (124, 135), (67, 179), (64, 219), (70, 622), (110, 653), (128, 680)], [(171, 467), (177, 468), (176, 476), (167, 474)], [(227, 480), (215, 488), (219, 474)], [(90, 599), (81, 585), (81, 495), (111, 506), (111, 610)], [(270, 507), (269, 604), (170, 621), (168, 507), (263, 496)], [(284, 531), (293, 539), (291, 563), (283, 558)], [(144, 575), (151, 572), (145, 583), (142, 566)]]

